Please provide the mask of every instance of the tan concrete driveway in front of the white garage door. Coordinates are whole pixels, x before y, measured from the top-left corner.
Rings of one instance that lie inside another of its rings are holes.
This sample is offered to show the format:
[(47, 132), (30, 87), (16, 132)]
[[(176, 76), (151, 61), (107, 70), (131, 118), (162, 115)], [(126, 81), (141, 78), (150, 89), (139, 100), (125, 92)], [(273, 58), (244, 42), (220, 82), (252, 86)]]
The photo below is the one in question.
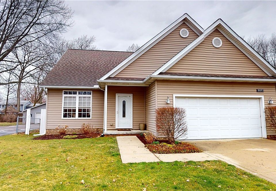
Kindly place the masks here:
[(210, 156), (276, 184), (276, 140), (207, 140), (190, 143)]

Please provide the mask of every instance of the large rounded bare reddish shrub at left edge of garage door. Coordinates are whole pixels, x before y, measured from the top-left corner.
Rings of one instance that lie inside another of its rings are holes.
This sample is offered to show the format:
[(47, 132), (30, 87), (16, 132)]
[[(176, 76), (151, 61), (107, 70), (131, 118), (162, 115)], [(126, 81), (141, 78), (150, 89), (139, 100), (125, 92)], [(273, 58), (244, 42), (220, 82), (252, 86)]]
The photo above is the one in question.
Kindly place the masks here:
[(178, 107), (160, 107), (156, 109), (156, 127), (173, 143), (187, 135), (186, 110)]

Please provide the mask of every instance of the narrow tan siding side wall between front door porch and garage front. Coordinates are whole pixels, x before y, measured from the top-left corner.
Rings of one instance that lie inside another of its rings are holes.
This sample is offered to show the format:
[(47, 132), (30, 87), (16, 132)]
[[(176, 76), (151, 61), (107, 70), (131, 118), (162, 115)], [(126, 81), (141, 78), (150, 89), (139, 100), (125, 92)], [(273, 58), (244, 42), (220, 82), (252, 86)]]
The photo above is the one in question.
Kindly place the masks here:
[(145, 88), (145, 123), (147, 130), (156, 136), (155, 108), (156, 108), (155, 81)]

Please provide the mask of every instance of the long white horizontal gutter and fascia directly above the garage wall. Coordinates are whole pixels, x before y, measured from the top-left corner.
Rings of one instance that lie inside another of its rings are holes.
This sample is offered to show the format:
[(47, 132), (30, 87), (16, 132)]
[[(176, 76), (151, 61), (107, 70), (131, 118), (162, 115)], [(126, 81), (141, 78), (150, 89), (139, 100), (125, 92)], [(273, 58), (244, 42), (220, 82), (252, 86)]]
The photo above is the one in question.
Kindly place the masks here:
[(195, 79), (195, 80), (231, 80), (231, 81), (262, 81), (276, 82), (276, 79), (262, 78), (225, 78), (225, 77), (202, 77), (202, 76), (170, 76), (170, 75), (151, 75), (155, 79)]

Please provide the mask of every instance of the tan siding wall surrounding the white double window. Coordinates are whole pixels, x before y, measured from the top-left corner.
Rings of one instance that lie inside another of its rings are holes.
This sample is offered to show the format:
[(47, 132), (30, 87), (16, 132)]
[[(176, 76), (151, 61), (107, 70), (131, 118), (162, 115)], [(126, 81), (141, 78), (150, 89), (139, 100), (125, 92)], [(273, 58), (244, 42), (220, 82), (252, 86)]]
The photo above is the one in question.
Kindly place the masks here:
[[(88, 89), (85, 89), (88, 90)], [(95, 128), (104, 126), (104, 91), (92, 90), (91, 119), (61, 119), (62, 89), (48, 89), (47, 93), (47, 129), (57, 125), (68, 125), (69, 128), (80, 128), (83, 123), (91, 123)]]

